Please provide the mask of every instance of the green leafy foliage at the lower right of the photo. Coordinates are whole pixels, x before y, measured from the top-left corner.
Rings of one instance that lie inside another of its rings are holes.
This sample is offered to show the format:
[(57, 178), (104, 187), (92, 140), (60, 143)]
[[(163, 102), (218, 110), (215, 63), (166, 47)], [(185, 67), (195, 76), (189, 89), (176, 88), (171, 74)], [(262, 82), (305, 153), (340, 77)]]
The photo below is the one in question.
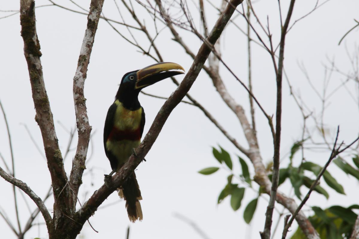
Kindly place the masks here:
[[(310, 188), (315, 181), (314, 179), (316, 178), (316, 176), (319, 175), (322, 170), (321, 166), (310, 161), (302, 162), (298, 167), (293, 166), (294, 155), (301, 147), (303, 147), (304, 141), (305, 140), (297, 141), (293, 144), (290, 150), (289, 165), (287, 167), (279, 169), (279, 185), (289, 179), (290, 183), (294, 188), (294, 193), (299, 200), (302, 200), (302, 194), (300, 192), (302, 186)], [(212, 152), (214, 158), (216, 158), (216, 160), (221, 165), (227, 166), (228, 169), (232, 172), (233, 164), (230, 154), (220, 146), (219, 149), (213, 147)], [(241, 179), (242, 182), (248, 183), (248, 185), (252, 187), (252, 179), (250, 176), (248, 165), (243, 158), (238, 156), (238, 159), (239, 164), (242, 168), (242, 173), (239, 175), (239, 179)], [(351, 175), (359, 180), (359, 170), (351, 166), (344, 159), (337, 157), (333, 160), (333, 162), (346, 174)], [(359, 158), (357, 155), (353, 157), (353, 163), (356, 167), (359, 168)], [(269, 167), (270, 168), (267, 170), (268, 172), (271, 171), (270, 169), (272, 165)], [(202, 169), (201, 171), (199, 171), (199, 173), (204, 175), (210, 175), (218, 171), (218, 169), (218, 167), (209, 167)], [(312, 176), (309, 176), (310, 174), (312, 174)], [(242, 205), (242, 200), (246, 190), (244, 187), (239, 187), (238, 184), (232, 183), (234, 176), (235, 173), (232, 172), (232, 174), (227, 177), (227, 185), (225, 185), (222, 191), (219, 193), (217, 202), (218, 204), (220, 204), (226, 197), (231, 196), (230, 206), (234, 211), (237, 211)], [(272, 174), (269, 174), (268, 177), (270, 180), (272, 180)], [(334, 189), (336, 192), (345, 194), (343, 186), (328, 171), (325, 171), (323, 173), (322, 178), (326, 182), (326, 184), (332, 189)], [(329, 193), (322, 187), (322, 185), (316, 185), (314, 187), (314, 191), (325, 196), (326, 199), (329, 198)], [(262, 188), (260, 187), (258, 194), (260, 195), (261, 193)], [(258, 197), (250, 201), (244, 209), (243, 218), (247, 224), (251, 222), (253, 215), (256, 211), (257, 204)], [(325, 210), (321, 209), (320, 207), (314, 206), (312, 207), (312, 210), (315, 214), (311, 216), (309, 220), (313, 224), (314, 228), (318, 231), (321, 238), (346, 239), (349, 238), (357, 217), (355, 212), (352, 211), (353, 209), (359, 209), (359, 205), (352, 205), (348, 208), (342, 206), (331, 206)], [(292, 239), (302, 238), (304, 239), (306, 237), (298, 228), (298, 230), (292, 236)]]

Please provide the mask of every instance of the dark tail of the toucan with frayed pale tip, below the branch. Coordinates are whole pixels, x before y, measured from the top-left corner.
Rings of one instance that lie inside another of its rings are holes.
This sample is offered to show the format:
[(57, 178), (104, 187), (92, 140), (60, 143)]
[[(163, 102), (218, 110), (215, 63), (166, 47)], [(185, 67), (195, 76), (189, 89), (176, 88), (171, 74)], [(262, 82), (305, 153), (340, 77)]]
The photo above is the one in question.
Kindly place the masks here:
[(143, 214), (139, 200), (142, 200), (140, 187), (136, 180), (135, 173), (127, 179), (125, 183), (118, 188), (118, 196), (126, 200), (126, 209), (129, 219), (132, 223), (136, 220), (142, 220)]

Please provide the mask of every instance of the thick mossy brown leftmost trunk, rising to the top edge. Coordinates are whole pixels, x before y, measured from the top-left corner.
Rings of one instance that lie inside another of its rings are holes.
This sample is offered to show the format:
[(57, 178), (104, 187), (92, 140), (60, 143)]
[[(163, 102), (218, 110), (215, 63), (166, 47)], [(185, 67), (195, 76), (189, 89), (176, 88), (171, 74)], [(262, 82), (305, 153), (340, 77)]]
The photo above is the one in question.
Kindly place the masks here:
[[(36, 33), (34, 0), (20, 1), (21, 36), (24, 40), (24, 55), (28, 65), (32, 98), (36, 110), (35, 121), (39, 125), (45, 148), (47, 167), (50, 171), (55, 198), (54, 217), (61, 215), (60, 208), (67, 208), (69, 190), (65, 188), (67, 177), (62, 155), (57, 142), (55, 126), (48, 101), (41, 66), (40, 44)], [(62, 190), (65, 188), (64, 190)], [(61, 197), (60, 191), (63, 191)], [(49, 228), (48, 228), (49, 229)]]

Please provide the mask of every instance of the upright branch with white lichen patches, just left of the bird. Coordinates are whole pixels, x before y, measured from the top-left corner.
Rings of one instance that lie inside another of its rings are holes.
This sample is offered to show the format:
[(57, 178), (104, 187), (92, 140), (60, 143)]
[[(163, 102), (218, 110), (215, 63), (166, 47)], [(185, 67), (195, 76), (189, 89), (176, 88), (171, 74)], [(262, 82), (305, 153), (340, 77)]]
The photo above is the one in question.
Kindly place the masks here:
[(98, 20), (101, 15), (104, 0), (92, 0), (90, 4), (90, 11), (87, 16), (87, 28), (82, 42), (80, 56), (77, 63), (77, 69), (74, 76), (74, 103), (76, 113), (76, 124), (78, 129), (78, 144), (76, 154), (73, 160), (70, 183), (73, 188), (71, 196), (71, 209), (75, 211), (76, 199), (79, 192), (79, 187), (82, 183), (82, 175), (85, 169), (85, 160), (90, 141), (90, 133), (92, 127), (89, 124), (89, 119), (86, 110), (86, 99), (84, 97), (84, 85), (87, 77), (87, 68), (90, 62), (90, 55), (92, 52), (95, 33), (97, 30)]

